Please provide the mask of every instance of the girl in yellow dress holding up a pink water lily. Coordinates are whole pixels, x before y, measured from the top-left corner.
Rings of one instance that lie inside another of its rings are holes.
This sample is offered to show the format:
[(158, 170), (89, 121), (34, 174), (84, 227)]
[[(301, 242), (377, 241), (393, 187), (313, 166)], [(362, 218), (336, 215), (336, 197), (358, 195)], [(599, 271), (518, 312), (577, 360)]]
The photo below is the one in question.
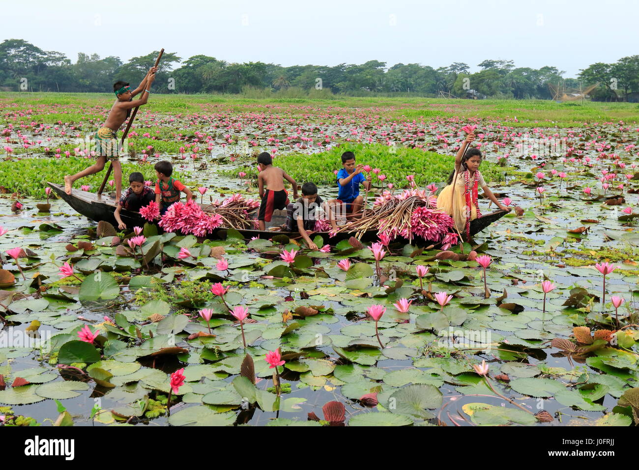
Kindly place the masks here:
[(470, 239), (470, 221), (481, 217), (479, 203), (477, 203), (478, 187), (481, 187), (484, 194), (497, 204), (498, 208), (511, 210), (497, 200), (479, 173), (481, 152), (477, 148), (471, 148), (465, 152), (474, 139), (475, 134), (468, 134), (465, 141), (459, 146), (455, 157), (455, 169), (450, 173), (448, 185), (442, 189), (437, 197), (437, 208), (452, 217), (457, 230), (461, 235), (465, 235), (466, 239)]

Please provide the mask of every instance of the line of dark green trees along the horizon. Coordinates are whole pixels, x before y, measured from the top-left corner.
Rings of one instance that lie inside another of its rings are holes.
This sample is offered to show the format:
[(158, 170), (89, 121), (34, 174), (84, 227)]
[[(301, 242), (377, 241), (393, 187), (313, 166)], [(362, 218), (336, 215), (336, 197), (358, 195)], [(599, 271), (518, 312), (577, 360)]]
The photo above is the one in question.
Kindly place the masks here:
[[(56, 51), (43, 51), (20, 39), (0, 43), (0, 89), (6, 91), (106, 92), (113, 82), (137, 85), (155, 61), (157, 52), (131, 58), (100, 58), (78, 54), (72, 61)], [(175, 67), (174, 67), (175, 66)], [(594, 100), (629, 98), (639, 93), (639, 56), (616, 63), (595, 63), (581, 69), (576, 78), (564, 78), (557, 67), (515, 67), (512, 60), (484, 60), (479, 72), (470, 73), (466, 63), (433, 68), (418, 63), (387, 63), (371, 60), (363, 64), (342, 63), (334, 67), (273, 63), (228, 63), (199, 54), (182, 60), (165, 52), (153, 86), (156, 93), (263, 93), (285, 94), (297, 90), (309, 97), (341, 94), (415, 95), (436, 97), (445, 93), (466, 97), (470, 93), (488, 98), (552, 99), (548, 84), (578, 90), (599, 83)]]

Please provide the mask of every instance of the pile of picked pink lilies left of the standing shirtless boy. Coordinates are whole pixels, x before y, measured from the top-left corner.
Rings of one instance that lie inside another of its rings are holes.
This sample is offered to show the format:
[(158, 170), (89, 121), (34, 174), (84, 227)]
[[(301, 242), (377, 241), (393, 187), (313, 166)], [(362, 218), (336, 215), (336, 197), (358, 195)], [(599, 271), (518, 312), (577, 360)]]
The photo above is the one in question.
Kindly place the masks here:
[(205, 237), (216, 228), (247, 229), (255, 224), (249, 212), (259, 203), (245, 199), (241, 194), (234, 194), (223, 201), (201, 207), (196, 201), (176, 202), (167, 209), (158, 225), (166, 231), (179, 231), (185, 235), (192, 233), (196, 237)]

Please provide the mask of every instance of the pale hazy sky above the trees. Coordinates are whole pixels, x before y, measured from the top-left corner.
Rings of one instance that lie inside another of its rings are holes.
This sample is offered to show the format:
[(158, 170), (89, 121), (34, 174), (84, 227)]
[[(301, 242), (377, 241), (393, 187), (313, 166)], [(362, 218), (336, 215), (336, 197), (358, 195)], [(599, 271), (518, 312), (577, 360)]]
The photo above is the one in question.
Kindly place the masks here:
[[(0, 40), (117, 56), (164, 47), (232, 62), (337, 65), (379, 60), (433, 68), (484, 59), (576, 77), (639, 54), (636, 0), (30, 0), (3, 1)], [(173, 65), (179, 67), (178, 64)]]

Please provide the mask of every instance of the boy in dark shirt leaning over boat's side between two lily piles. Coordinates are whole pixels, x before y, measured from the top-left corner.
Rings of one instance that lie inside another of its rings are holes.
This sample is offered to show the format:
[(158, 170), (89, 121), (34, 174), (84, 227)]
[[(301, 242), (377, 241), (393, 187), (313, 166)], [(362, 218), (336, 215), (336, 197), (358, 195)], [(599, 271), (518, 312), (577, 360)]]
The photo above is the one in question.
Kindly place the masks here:
[(302, 197), (294, 204), (289, 204), (286, 207), (286, 212), (288, 213), (286, 216), (286, 230), (298, 231), (307, 246), (312, 250), (318, 249), (318, 246), (310, 239), (308, 232), (315, 231), (315, 224), (319, 219), (316, 213), (318, 208), (321, 208), (327, 215), (331, 228), (338, 230), (330, 205), (319, 197), (318, 187), (314, 183), (304, 183), (302, 185)]

